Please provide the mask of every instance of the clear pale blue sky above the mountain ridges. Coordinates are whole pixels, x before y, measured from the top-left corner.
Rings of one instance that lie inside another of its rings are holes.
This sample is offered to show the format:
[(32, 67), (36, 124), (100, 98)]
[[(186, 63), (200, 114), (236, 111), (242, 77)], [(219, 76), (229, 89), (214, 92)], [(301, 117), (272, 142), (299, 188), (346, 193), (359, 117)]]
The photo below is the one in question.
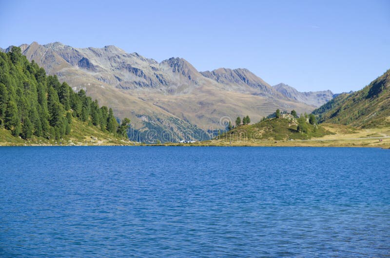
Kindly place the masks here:
[(390, 1), (0, 0), (0, 47), (116, 45), (199, 71), (248, 68), (299, 91), (359, 90), (390, 69)]

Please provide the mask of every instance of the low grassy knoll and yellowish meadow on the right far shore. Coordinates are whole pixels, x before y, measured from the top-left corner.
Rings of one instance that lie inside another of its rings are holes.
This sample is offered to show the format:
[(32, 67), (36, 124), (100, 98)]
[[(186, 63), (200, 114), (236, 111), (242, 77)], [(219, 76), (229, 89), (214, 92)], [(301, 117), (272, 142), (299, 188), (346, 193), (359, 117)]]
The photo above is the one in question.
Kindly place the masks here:
[(357, 129), (338, 124), (321, 124), (315, 132), (300, 133), (289, 120), (272, 119), (239, 126), (210, 141), (168, 145), (390, 148), (390, 127)]

